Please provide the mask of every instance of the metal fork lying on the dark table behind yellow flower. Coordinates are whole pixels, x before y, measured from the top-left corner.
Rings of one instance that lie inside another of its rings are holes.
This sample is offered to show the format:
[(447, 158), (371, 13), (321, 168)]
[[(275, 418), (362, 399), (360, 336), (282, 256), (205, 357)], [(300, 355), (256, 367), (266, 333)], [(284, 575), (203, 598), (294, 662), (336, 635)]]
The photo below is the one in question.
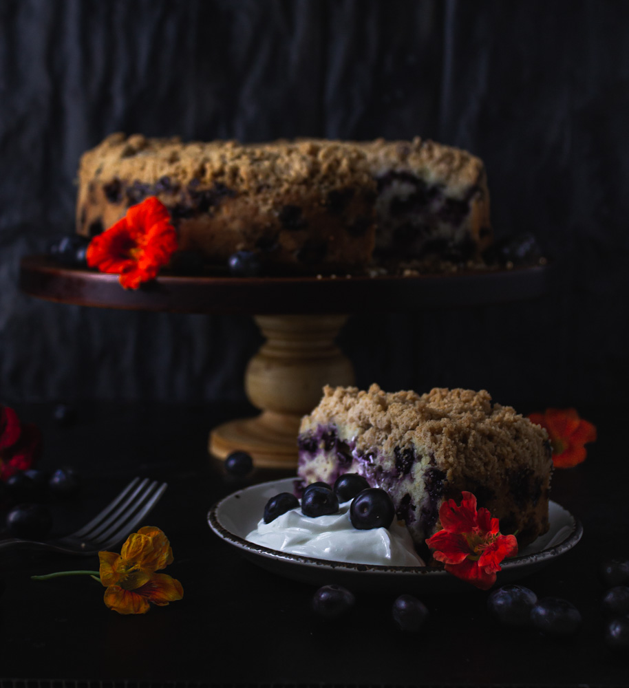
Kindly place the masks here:
[(52, 550), (67, 555), (94, 555), (125, 539), (155, 506), (167, 484), (134, 478), (124, 490), (83, 528), (47, 542), (12, 537), (0, 540), (0, 550), (11, 547)]

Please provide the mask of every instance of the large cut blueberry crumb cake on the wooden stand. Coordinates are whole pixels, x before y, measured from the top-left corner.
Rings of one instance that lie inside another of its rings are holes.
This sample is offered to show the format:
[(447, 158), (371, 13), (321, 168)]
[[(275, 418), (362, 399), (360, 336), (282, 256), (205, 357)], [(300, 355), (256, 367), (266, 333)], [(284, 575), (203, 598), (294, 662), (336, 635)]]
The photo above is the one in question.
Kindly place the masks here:
[(81, 158), (78, 233), (102, 232), (150, 195), (169, 209), (182, 254), (224, 266), (255, 252), (270, 273), (476, 260), (492, 239), (482, 161), (420, 138), (244, 145), (114, 133)]

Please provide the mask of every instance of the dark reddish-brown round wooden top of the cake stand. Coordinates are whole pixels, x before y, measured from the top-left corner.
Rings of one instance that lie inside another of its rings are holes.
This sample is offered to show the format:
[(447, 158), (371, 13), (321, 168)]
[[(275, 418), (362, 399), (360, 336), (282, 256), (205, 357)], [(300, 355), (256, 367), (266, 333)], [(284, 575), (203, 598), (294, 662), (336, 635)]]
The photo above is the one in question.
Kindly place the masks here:
[(21, 261), (20, 288), (40, 299), (100, 308), (213, 314), (410, 312), (531, 299), (548, 292), (550, 266), (419, 277), (182, 277), (125, 290), (117, 275)]

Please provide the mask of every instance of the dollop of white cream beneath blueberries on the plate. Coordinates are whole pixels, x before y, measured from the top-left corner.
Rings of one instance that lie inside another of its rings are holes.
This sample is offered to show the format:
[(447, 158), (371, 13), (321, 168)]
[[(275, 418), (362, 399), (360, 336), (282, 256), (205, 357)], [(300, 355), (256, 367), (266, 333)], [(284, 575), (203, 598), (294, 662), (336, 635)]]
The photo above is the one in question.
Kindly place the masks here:
[(390, 527), (358, 530), (350, 521), (350, 504), (338, 513), (315, 518), (304, 516), (301, 506), (270, 523), (260, 519), (246, 539), (272, 550), (314, 559), (385, 566), (425, 566), (415, 553), (403, 522), (394, 519)]

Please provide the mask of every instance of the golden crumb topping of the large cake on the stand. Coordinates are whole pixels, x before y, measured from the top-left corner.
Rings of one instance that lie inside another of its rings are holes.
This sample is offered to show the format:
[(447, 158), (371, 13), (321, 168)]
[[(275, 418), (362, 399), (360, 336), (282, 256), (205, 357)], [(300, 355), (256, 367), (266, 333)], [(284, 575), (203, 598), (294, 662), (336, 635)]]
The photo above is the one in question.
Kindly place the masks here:
[(480, 184), (480, 158), (430, 140), (344, 142), (324, 139), (240, 144), (233, 140), (182, 142), (179, 137), (145, 138), (113, 133), (81, 158), (81, 176), (109, 180), (167, 176), (180, 184), (220, 182), (241, 192), (265, 186), (288, 191), (295, 184), (326, 189), (360, 185), (376, 188), (384, 170), (412, 171), (429, 183), (444, 184), (451, 195)]

